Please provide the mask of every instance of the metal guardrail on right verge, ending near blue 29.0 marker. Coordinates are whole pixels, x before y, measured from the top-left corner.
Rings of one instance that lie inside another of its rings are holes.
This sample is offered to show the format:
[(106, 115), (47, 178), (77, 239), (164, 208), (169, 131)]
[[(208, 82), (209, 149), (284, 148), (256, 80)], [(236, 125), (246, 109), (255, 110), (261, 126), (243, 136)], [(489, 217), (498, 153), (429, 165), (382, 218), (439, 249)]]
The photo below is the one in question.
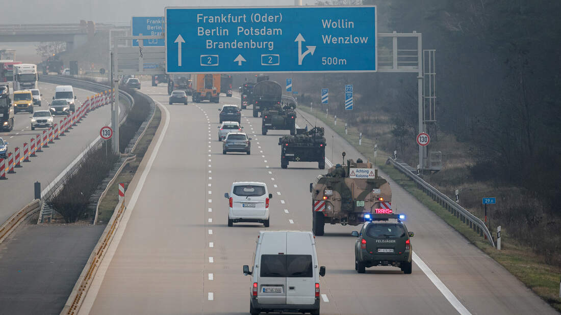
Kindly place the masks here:
[(443, 206), (446, 210), (448, 210), (448, 212), (452, 213), (463, 223), (469, 225), (470, 228), (473, 229), (473, 231), (477, 232), (477, 234), (479, 234), (480, 236), (483, 236), (483, 234), (485, 234), (487, 236), (487, 239), (489, 239), (489, 243), (491, 243), (491, 246), (495, 247), (495, 242), (493, 241), (491, 232), (489, 232), (489, 229), (480, 218), (477, 218), (470, 211), (464, 209), (461, 205), (458, 205), (456, 201), (453, 201), (447, 195), (444, 195), (438, 189), (422, 180), (422, 178), (417, 176), (415, 173), (411, 172), (411, 170), (406, 166), (407, 164), (399, 163), (391, 157), (388, 158), (388, 162), (392, 163), (395, 168), (415, 181), (417, 183), (417, 187), (424, 191), (425, 194), (429, 195), (430, 198)]

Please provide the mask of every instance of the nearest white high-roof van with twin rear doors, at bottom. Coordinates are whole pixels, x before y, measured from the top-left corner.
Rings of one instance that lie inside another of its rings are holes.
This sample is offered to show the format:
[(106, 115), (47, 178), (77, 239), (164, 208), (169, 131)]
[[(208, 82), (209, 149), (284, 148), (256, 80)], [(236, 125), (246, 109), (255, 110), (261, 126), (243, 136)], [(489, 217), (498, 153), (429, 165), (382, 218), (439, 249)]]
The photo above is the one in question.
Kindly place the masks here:
[(319, 277), (312, 232), (261, 231), (257, 237), (253, 265), (243, 266), (251, 275), (250, 313), (301, 312), (319, 314)]

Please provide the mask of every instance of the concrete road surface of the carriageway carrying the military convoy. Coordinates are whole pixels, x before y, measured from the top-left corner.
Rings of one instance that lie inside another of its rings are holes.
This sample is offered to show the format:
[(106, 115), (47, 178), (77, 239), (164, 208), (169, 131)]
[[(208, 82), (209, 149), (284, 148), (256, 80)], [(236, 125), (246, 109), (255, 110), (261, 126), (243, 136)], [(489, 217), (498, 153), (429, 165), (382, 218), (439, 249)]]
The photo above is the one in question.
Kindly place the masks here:
[[(167, 104), (165, 87), (142, 90)], [(127, 191), (128, 208), (116, 239), (95, 276), (81, 314), (246, 314), (251, 265), (261, 224), (227, 227), (224, 192), (233, 181), (263, 181), (274, 198), (268, 230), (311, 230), (309, 184), (325, 171), (317, 163), (280, 168), (278, 137), (260, 133), (261, 121), (243, 110), (253, 138), (251, 155), (222, 154), (217, 142), (219, 106), (163, 105), (163, 129)], [(300, 118), (297, 123), (305, 125)], [(332, 131), (326, 129), (330, 156)], [(360, 155), (333, 135), (334, 158)], [(364, 158), (364, 157), (363, 157)], [(329, 166), (330, 162), (328, 163)], [(411, 275), (394, 267), (354, 270), (351, 231), (326, 225), (316, 238), (323, 314), (554, 314), (502, 266), (468, 243), (406, 191), (390, 181), (393, 205), (407, 213), (415, 264)]]

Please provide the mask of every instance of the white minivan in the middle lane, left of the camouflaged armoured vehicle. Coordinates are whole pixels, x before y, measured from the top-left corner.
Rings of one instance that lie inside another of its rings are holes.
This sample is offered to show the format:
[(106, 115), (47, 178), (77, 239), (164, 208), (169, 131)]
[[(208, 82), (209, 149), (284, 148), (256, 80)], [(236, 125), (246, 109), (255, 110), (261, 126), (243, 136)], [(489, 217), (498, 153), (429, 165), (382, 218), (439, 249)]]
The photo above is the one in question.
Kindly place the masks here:
[(264, 182), (234, 182), (224, 197), (229, 201), (228, 227), (237, 222), (257, 222), (269, 227), (269, 194)]

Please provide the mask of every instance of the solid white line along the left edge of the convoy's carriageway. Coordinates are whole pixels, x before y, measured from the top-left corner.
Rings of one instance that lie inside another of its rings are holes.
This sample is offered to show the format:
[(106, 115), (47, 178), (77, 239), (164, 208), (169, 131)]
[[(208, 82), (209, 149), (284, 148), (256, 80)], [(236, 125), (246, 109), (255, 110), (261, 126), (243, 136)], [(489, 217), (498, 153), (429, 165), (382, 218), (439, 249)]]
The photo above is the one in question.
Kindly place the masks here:
[(156, 100), (154, 100), (154, 102), (157, 103), (158, 105), (160, 105), (160, 108), (162, 108), (165, 111), (165, 114), (167, 116), (167, 119), (165, 120), (165, 123), (164, 123), (164, 128), (162, 129), (162, 133), (160, 134), (160, 137), (158, 138), (158, 142), (156, 142), (156, 145), (154, 146), (154, 150), (152, 151), (152, 153), (150, 153), (150, 158), (148, 159), (148, 163), (146, 163), (146, 168), (144, 168), (144, 170), (142, 171), (142, 174), (140, 175), (140, 179), (139, 179), (138, 184), (136, 185), (136, 189), (132, 193), (131, 199), (128, 201), (128, 203), (126, 205), (125, 209), (128, 209), (128, 211), (125, 211), (125, 214), (123, 215), (123, 218), (121, 219), (121, 222), (119, 222), (119, 226), (117, 227), (117, 231), (115, 232), (115, 235), (113, 236), (113, 241), (109, 245), (109, 248), (107, 249), (107, 253), (105, 253), (105, 257), (103, 257), (103, 260), (100, 262), (98, 271), (95, 272), (94, 279), (91, 281), (90, 289), (88, 290), (88, 293), (86, 293), (86, 296), (85, 296), (84, 302), (82, 303), (82, 306), (80, 308), (79, 314), (89, 314), (90, 311), (91, 311), (91, 308), (94, 306), (95, 299), (96, 299), (96, 297), (98, 296), (98, 293), (99, 293), (99, 289), (101, 288), (101, 286), (103, 284), (103, 278), (105, 277), (105, 272), (107, 272), (107, 269), (109, 268), (109, 265), (111, 265), (111, 261), (113, 260), (113, 256), (115, 255), (115, 252), (117, 251), (117, 247), (119, 246), (119, 243), (121, 242), (121, 238), (123, 237), (123, 234), (125, 233), (125, 229), (127, 227), (128, 219), (130, 219), (132, 211), (134, 211), (134, 209), (135, 209), (136, 201), (139, 199), (139, 196), (140, 196), (140, 191), (142, 191), (142, 188), (144, 187), (144, 183), (146, 182), (146, 177), (148, 177), (148, 173), (150, 173), (150, 170), (152, 168), (152, 164), (154, 164), (154, 160), (156, 159), (156, 156), (158, 155), (160, 145), (162, 145), (162, 142), (165, 138), (165, 133), (168, 130), (169, 120), (171, 119), (169, 111), (160, 102), (158, 102)]

